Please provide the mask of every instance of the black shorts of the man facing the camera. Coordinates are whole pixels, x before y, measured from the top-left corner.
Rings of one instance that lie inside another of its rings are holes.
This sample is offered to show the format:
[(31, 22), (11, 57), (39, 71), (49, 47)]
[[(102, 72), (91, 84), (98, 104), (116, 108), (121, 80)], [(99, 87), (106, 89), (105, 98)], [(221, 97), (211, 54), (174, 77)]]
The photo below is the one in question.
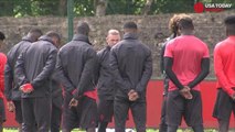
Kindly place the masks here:
[(99, 99), (98, 102), (98, 120), (111, 122), (114, 116), (114, 100)]

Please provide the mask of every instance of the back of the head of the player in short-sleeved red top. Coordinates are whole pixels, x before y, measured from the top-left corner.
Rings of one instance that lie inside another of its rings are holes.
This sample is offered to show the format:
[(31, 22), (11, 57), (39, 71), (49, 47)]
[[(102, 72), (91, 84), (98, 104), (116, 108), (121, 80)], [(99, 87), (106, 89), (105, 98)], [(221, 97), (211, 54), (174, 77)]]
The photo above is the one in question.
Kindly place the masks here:
[(194, 29), (193, 20), (189, 15), (180, 18), (178, 25), (179, 25), (180, 30), (193, 30)]

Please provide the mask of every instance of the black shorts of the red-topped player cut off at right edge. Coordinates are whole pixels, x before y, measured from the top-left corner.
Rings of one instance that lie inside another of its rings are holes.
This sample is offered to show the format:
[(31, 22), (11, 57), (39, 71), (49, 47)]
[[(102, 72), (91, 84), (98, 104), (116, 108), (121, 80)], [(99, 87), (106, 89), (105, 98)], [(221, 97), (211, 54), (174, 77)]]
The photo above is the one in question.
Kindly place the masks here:
[(218, 89), (213, 117), (229, 121), (232, 111), (235, 114), (235, 101), (223, 89)]

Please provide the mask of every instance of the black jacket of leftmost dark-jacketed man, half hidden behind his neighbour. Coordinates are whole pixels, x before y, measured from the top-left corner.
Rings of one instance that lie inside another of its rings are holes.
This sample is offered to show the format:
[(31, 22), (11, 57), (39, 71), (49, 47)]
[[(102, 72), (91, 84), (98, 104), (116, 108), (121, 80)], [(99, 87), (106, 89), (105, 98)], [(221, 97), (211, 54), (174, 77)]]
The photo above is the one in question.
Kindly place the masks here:
[(14, 76), (14, 66), (20, 53), (28, 48), (31, 43), (32, 41), (24, 36), (21, 42), (19, 42), (8, 52), (8, 62), (4, 68), (4, 95), (7, 100), (21, 99), (21, 91), (19, 90), (19, 85)]

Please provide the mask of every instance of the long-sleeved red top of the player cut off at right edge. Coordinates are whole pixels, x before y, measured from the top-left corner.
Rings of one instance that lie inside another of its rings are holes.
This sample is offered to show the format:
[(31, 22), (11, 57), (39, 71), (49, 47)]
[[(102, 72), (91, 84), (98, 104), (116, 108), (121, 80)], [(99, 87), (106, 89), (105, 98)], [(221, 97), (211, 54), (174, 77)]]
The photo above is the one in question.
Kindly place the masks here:
[(216, 44), (214, 48), (214, 70), (217, 88), (223, 88), (229, 96), (235, 88), (235, 35)]

